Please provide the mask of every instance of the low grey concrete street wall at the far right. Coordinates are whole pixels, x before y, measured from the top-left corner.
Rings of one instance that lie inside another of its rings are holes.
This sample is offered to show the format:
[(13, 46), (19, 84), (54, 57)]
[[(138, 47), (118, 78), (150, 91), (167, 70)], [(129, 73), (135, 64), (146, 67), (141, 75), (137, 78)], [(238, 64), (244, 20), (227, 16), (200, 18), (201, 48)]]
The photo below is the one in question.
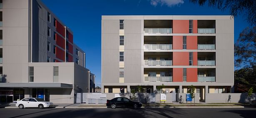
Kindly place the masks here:
[[(256, 93), (251, 95), (251, 100), (256, 100)], [(249, 97), (247, 96), (247, 93), (206, 94), (205, 102), (206, 103), (228, 103), (228, 102), (229, 103), (249, 103)]]

